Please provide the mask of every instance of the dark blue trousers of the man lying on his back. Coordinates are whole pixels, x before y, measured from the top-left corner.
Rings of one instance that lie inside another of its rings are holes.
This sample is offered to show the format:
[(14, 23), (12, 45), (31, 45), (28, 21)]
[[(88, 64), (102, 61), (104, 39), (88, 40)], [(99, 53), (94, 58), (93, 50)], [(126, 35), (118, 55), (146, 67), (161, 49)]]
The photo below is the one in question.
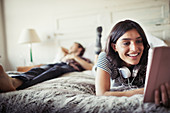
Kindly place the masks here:
[(38, 68), (32, 68), (28, 72), (22, 73), (19, 76), (15, 76), (15, 78), (23, 81), (23, 84), (17, 89), (24, 89), (37, 83), (74, 71), (77, 70), (66, 63), (48, 64)]

